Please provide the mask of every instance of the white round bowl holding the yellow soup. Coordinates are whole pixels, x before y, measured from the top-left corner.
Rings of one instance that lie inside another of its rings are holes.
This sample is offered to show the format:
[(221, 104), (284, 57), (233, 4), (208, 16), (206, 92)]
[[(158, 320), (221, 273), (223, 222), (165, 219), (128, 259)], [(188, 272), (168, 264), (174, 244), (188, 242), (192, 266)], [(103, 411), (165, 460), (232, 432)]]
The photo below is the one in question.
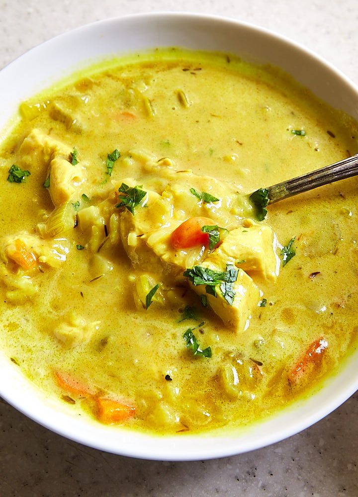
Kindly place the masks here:
[[(0, 72), (0, 139), (19, 102), (102, 58), (148, 48), (180, 46), (235, 53), (245, 60), (281, 67), (333, 107), (358, 120), (358, 89), (306, 49), (265, 29), (190, 13), (133, 15), (97, 22), (58, 36)], [(5, 95), (5, 97), (4, 97)], [(0, 396), (16, 409), (68, 438), (109, 452), (159, 460), (196, 460), (239, 454), (269, 445), (315, 423), (358, 389), (357, 354), (306, 401), (246, 429), (201, 435), (154, 436), (104, 426), (74, 415), (34, 388), (0, 354)]]

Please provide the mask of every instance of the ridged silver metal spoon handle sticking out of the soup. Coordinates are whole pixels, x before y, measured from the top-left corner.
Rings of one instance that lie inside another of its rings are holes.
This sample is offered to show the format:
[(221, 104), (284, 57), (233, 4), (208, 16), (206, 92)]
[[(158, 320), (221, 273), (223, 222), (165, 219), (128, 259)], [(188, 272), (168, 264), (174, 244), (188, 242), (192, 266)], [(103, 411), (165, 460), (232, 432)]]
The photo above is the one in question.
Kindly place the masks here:
[(316, 169), (302, 176), (282, 181), (275, 185), (269, 186), (268, 197), (269, 204), (278, 200), (303, 193), (304, 191), (313, 190), (318, 186), (334, 183), (339, 179), (349, 178), (358, 174), (358, 155), (348, 157), (342, 161), (331, 164), (330, 166)]

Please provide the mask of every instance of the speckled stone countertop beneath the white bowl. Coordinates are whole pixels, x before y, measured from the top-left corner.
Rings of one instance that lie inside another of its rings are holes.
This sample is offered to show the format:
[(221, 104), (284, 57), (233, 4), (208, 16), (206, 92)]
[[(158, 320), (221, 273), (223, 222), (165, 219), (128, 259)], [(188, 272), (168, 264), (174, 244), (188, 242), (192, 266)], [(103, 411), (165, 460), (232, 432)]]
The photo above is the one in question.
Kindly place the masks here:
[[(357, 0), (0, 1), (0, 67), (73, 27), (151, 10), (205, 12), (259, 24), (314, 49), (358, 83)], [(357, 420), (358, 395), (270, 447), (169, 463), (90, 449), (0, 402), (0, 496), (357, 497)]]

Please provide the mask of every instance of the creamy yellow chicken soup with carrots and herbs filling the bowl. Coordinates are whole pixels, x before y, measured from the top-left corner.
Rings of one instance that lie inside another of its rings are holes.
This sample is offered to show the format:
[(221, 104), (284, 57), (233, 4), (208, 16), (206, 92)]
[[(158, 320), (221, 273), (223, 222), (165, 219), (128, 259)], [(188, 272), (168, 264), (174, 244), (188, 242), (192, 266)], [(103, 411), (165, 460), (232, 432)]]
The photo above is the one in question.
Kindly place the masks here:
[(156, 433), (312, 394), (356, 347), (357, 180), (262, 221), (249, 194), (356, 137), (277, 69), (179, 49), (23, 102), (0, 153), (2, 350), (69, 410)]

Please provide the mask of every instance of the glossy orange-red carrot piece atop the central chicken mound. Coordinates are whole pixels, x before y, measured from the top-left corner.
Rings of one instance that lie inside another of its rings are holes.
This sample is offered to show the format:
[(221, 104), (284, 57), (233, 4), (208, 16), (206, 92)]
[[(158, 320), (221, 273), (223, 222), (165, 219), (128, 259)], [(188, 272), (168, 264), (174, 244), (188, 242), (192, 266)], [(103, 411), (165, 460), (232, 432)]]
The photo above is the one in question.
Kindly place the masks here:
[(198, 245), (208, 245), (209, 234), (203, 233), (203, 226), (214, 226), (212, 219), (204, 217), (189, 218), (176, 228), (171, 236), (174, 248), (190, 248)]

